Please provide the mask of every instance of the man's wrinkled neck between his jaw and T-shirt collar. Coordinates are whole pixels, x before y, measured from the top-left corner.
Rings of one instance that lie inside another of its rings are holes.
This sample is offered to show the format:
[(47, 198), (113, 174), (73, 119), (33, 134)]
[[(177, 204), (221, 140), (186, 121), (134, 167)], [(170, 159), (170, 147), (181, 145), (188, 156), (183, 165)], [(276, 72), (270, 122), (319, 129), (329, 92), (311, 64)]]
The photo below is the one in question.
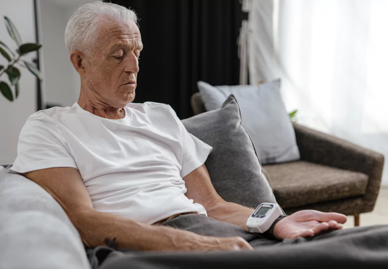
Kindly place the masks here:
[(100, 100), (95, 93), (81, 87), (80, 98), (78, 98), (80, 107), (96, 116), (118, 120), (125, 117), (125, 110), (114, 108)]

